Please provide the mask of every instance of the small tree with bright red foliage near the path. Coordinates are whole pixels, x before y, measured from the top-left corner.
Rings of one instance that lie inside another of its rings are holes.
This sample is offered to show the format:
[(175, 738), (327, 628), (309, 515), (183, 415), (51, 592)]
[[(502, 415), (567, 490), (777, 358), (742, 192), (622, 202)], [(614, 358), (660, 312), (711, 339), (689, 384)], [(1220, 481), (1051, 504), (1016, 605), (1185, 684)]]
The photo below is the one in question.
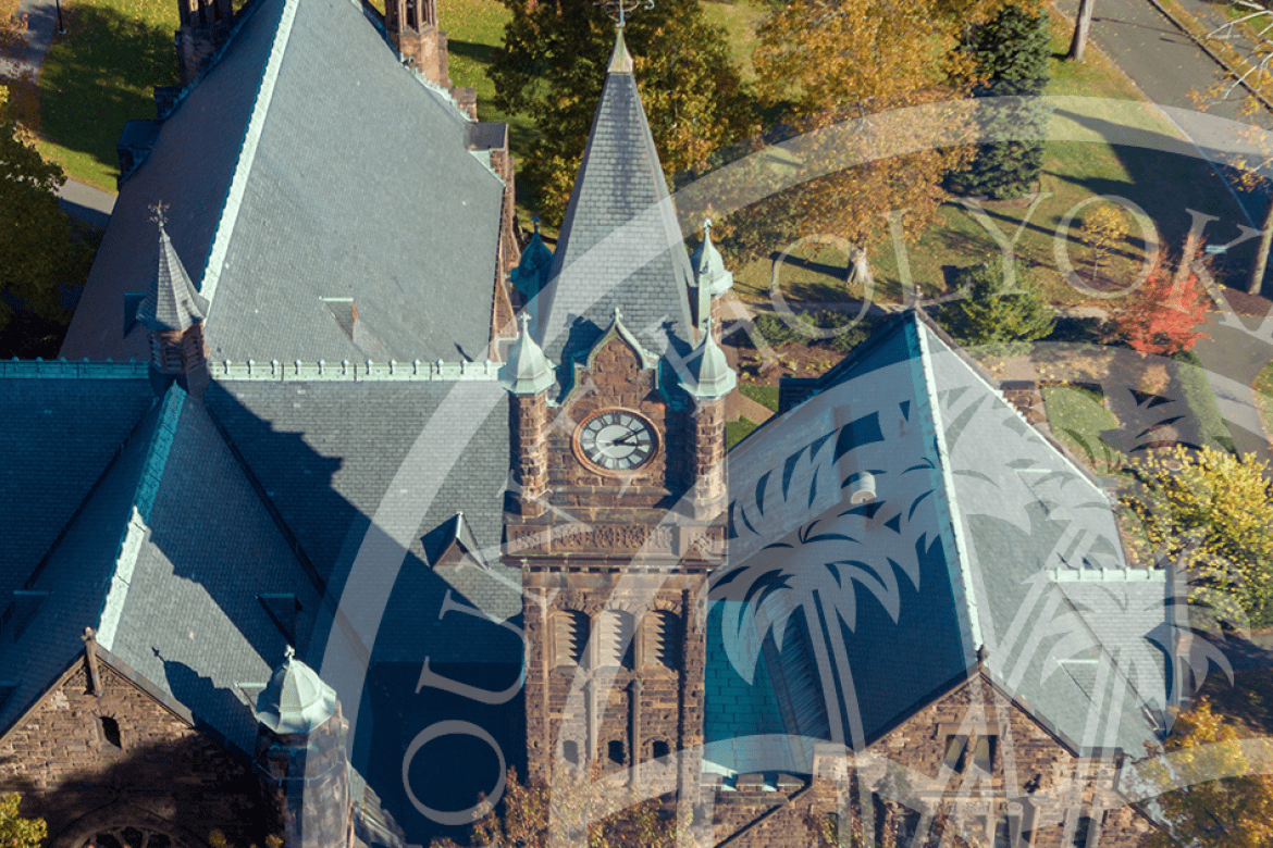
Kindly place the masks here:
[(1192, 268), (1171, 278), (1156, 267), (1113, 315), (1114, 333), (1141, 353), (1181, 353), (1193, 350), (1199, 338), (1211, 338), (1198, 329), (1207, 319), (1208, 303)]

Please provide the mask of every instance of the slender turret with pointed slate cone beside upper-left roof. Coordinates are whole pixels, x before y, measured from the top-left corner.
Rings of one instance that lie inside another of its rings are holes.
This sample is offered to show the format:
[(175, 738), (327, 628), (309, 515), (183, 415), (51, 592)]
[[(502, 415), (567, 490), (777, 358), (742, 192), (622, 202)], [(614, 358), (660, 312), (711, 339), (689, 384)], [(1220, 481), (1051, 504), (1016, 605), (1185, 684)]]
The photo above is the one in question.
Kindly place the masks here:
[(137, 308), (137, 320), (150, 329), (150, 374), (159, 394), (173, 381), (196, 397), (207, 386), (206, 314), (207, 300), (190, 281), (160, 220), (154, 282)]

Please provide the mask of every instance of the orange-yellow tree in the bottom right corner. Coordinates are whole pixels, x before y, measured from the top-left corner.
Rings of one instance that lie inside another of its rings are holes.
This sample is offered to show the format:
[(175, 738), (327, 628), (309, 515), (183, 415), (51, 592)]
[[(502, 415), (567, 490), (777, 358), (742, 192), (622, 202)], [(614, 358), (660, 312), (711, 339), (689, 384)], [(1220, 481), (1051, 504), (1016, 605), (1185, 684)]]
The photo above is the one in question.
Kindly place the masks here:
[(1137, 773), (1158, 790), (1155, 817), (1166, 829), (1150, 831), (1141, 848), (1273, 844), (1273, 776), (1253, 768), (1237, 731), (1211, 702), (1202, 698), (1181, 713), (1162, 746), (1166, 755), (1142, 763)]

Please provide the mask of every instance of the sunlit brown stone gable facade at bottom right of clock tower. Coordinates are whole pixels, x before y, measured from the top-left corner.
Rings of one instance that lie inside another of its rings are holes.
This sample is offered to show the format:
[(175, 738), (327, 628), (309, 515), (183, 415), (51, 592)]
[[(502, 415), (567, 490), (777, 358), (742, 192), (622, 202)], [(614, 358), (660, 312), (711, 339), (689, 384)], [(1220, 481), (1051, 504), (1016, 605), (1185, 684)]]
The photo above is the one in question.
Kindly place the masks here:
[(859, 786), (880, 848), (938, 844), (943, 826), (973, 845), (1134, 848), (1152, 828), (1115, 792), (1118, 762), (1074, 756), (980, 673), (871, 745), (857, 776), (826, 749), (812, 778), (705, 776), (713, 844), (817, 845), (843, 804), (861, 810)]

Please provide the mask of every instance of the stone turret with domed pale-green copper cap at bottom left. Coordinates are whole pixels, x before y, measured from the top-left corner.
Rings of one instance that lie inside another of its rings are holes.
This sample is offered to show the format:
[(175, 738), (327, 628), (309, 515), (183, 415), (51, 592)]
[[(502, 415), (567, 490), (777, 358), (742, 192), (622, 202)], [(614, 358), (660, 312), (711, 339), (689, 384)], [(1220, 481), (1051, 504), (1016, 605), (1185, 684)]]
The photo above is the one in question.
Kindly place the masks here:
[(256, 699), (256, 768), (270, 828), (286, 848), (349, 848), (349, 722), (340, 702), (292, 647)]

